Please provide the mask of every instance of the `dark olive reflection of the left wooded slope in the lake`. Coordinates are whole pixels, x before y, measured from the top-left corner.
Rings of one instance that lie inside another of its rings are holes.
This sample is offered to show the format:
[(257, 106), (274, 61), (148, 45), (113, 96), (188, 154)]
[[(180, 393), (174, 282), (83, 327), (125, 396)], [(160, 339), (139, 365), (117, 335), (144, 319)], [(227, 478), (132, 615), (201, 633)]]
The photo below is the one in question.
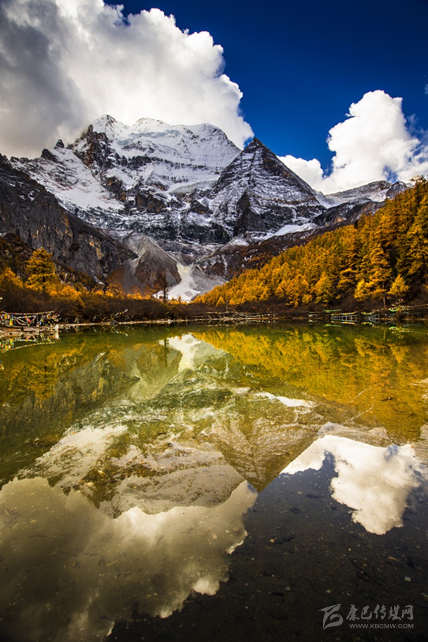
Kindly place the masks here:
[(31, 354), (39, 359), (33, 361), (18, 352), (21, 354), (8, 354), (14, 359), (8, 360), (0, 376), (4, 455), (0, 478), (5, 480), (54, 446), (73, 419), (134, 381), (116, 369), (107, 356), (94, 356), (77, 343), (74, 349), (65, 350), (37, 347)]

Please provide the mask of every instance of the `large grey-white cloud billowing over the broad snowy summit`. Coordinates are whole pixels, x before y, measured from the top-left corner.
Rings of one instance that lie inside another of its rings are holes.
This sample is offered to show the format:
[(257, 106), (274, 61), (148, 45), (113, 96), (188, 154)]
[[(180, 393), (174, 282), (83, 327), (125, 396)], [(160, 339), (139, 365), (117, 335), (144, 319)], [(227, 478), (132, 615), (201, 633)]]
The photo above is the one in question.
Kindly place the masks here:
[(39, 155), (106, 113), (212, 123), (242, 147), (252, 130), (223, 67), (209, 33), (158, 9), (125, 20), (103, 0), (1, 0), (0, 152)]

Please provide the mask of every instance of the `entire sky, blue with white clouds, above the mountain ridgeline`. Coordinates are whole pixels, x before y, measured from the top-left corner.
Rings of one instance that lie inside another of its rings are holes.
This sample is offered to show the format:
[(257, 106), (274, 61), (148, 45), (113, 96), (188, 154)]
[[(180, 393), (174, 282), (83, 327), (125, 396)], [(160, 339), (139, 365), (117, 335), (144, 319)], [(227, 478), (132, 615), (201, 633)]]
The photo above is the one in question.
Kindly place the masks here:
[(428, 0), (0, 0), (0, 152), (110, 114), (256, 135), (325, 193), (428, 175), (427, 26)]

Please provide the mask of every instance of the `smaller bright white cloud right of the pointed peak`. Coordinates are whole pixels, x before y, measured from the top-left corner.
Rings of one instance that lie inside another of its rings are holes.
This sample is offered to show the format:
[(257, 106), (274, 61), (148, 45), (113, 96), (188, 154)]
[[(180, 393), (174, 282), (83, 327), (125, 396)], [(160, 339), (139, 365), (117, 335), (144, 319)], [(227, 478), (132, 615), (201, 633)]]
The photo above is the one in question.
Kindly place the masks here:
[(410, 134), (402, 98), (370, 91), (352, 103), (347, 116), (329, 131), (327, 143), (334, 157), (328, 175), (317, 159), (287, 155), (280, 157), (282, 162), (325, 194), (373, 180), (409, 180), (428, 172), (428, 148)]

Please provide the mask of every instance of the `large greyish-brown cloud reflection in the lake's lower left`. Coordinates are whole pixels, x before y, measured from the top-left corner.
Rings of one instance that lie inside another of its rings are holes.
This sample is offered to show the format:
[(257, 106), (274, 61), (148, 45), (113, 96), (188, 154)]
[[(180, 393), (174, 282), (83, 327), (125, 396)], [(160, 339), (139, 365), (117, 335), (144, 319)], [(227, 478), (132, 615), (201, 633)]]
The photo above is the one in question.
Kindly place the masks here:
[(135, 507), (110, 519), (80, 492), (66, 496), (41, 478), (8, 483), (0, 492), (4, 634), (46, 639), (55, 621), (49, 639), (101, 639), (133, 609), (166, 617), (192, 591), (216, 593), (255, 497), (243, 482), (213, 508), (148, 515)]

